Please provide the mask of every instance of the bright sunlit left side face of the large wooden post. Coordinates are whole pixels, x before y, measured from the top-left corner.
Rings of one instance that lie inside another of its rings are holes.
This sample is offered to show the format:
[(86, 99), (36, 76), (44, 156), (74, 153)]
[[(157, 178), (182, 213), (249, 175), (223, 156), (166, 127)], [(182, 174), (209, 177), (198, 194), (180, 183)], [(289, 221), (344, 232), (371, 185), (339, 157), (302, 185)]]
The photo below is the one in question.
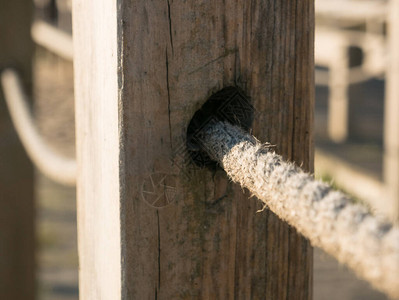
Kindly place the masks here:
[(121, 293), (116, 2), (73, 1), (81, 299)]

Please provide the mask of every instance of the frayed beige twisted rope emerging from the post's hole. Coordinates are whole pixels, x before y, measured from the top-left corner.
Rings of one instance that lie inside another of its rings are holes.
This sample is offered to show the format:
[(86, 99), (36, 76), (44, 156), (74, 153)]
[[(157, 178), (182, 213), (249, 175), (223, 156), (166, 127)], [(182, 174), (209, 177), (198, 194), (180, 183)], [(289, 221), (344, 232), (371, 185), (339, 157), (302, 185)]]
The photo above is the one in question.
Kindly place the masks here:
[(229, 177), (262, 200), (282, 220), (399, 299), (399, 227), (373, 216), (341, 192), (283, 161), (270, 145), (229, 123), (199, 133), (208, 155)]

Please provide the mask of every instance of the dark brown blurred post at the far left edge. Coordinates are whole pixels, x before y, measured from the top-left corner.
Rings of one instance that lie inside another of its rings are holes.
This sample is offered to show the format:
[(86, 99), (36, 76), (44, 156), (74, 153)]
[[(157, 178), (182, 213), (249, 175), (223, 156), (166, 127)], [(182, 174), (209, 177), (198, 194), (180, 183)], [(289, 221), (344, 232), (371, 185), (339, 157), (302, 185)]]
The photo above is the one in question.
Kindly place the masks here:
[[(0, 70), (15, 67), (31, 87), (32, 1), (0, 0)], [(0, 297), (34, 299), (33, 168), (0, 92)]]

